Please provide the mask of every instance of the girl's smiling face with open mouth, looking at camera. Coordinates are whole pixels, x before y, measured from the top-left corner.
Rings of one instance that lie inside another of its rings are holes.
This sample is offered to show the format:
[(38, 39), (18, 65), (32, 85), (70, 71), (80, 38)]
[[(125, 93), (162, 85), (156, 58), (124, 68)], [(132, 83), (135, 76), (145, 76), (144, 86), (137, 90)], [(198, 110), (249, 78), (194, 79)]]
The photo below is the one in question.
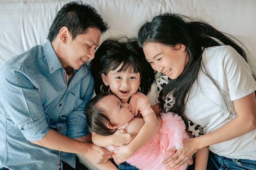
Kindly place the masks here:
[(115, 70), (110, 70), (107, 75), (101, 74), (101, 77), (111, 92), (120, 99), (127, 101), (139, 88), (140, 74), (135, 73), (132, 68), (124, 72), (117, 72), (120, 68), (121, 65)]

